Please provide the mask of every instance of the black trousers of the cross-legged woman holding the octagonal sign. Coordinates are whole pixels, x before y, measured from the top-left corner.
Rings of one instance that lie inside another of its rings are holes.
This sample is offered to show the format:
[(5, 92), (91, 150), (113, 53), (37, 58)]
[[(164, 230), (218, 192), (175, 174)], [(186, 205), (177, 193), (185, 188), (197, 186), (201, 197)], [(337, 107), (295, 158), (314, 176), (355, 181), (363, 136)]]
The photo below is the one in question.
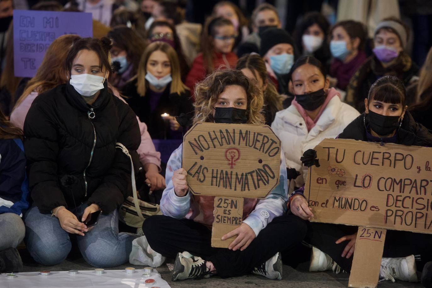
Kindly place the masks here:
[(158, 253), (175, 258), (188, 251), (211, 261), (222, 278), (249, 274), (277, 252), (296, 247), (305, 237), (306, 222), (295, 215), (274, 218), (243, 251), (211, 247), (211, 231), (189, 219), (154, 215), (143, 223), (147, 241)]

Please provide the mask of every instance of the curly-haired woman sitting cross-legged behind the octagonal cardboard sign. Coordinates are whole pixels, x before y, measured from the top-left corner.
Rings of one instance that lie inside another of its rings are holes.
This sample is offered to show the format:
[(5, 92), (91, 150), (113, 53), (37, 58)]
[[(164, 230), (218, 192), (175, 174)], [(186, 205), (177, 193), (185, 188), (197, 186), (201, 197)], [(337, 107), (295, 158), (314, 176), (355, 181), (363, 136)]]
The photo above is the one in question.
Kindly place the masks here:
[[(218, 70), (197, 86), (194, 123), (263, 124), (260, 114), (262, 92), (238, 70)], [(235, 240), (229, 248), (211, 247), (213, 196), (192, 195), (187, 172), (181, 168), (182, 146), (167, 165), (167, 188), (161, 200), (164, 215), (152, 216), (143, 231), (153, 250), (175, 258), (172, 279), (222, 278), (254, 272), (270, 279), (282, 279), (279, 252), (302, 241), (305, 222), (285, 214), (286, 167), (280, 161), (280, 181), (265, 199), (244, 199), (241, 225), (222, 237)], [(278, 175), (277, 173), (275, 173)], [(277, 176), (276, 176), (277, 177)]]

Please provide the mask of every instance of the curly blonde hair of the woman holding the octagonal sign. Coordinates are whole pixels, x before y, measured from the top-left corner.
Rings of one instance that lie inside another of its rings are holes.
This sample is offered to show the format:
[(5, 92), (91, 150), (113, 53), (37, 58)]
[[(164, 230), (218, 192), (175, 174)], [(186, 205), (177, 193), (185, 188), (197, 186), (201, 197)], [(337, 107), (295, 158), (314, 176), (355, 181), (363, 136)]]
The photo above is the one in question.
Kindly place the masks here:
[(229, 85), (239, 85), (245, 89), (247, 97), (247, 124), (264, 124), (264, 116), (260, 113), (263, 108), (263, 92), (239, 70), (216, 70), (195, 88), (195, 116), (194, 123), (213, 122), (213, 107), (219, 95)]

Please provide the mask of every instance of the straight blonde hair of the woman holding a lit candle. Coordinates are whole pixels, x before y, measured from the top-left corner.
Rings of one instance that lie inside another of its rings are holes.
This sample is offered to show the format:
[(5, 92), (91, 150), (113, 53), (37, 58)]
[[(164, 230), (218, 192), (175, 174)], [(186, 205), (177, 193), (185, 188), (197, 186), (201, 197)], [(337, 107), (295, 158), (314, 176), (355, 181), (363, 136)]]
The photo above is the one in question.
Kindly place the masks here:
[(177, 53), (175, 52), (174, 48), (172, 48), (169, 44), (161, 41), (156, 41), (147, 46), (146, 50), (144, 50), (143, 55), (140, 59), (140, 64), (138, 65), (138, 72), (133, 79), (137, 79), (137, 92), (138, 94), (143, 97), (146, 95), (147, 87), (148, 87), (148, 81), (146, 80), (146, 74), (147, 74), (147, 62), (149, 60), (150, 55), (155, 51), (162, 51), (166, 54), (168, 57), (169, 63), (171, 64), (171, 89), (170, 94), (177, 93), (180, 95), (180, 93), (184, 93), (188, 88), (186, 85), (184, 85), (183, 82), (181, 82), (181, 75), (180, 75), (180, 64), (178, 62)]

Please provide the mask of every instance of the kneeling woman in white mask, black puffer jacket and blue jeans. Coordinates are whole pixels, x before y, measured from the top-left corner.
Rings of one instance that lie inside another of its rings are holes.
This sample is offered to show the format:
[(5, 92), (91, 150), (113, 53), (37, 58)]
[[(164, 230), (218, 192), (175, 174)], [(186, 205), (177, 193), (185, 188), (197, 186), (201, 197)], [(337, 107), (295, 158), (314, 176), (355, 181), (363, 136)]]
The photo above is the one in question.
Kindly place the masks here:
[(136, 234), (118, 233), (117, 208), (129, 193), (130, 158), (140, 129), (132, 109), (107, 87), (108, 38), (79, 38), (65, 67), (70, 80), (41, 93), (25, 117), (25, 156), (32, 207), (25, 244), (36, 262), (61, 263), (76, 237), (84, 259), (113, 267), (129, 260)]

